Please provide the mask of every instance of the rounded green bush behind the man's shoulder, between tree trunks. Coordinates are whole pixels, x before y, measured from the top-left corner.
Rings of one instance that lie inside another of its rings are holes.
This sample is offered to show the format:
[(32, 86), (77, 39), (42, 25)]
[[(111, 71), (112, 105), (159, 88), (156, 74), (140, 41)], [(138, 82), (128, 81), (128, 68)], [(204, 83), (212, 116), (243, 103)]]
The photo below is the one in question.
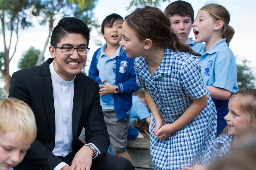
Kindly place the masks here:
[(40, 50), (30, 47), (28, 51), (25, 51), (22, 58), (19, 60), (18, 68), (26, 69), (35, 66), (40, 53)]

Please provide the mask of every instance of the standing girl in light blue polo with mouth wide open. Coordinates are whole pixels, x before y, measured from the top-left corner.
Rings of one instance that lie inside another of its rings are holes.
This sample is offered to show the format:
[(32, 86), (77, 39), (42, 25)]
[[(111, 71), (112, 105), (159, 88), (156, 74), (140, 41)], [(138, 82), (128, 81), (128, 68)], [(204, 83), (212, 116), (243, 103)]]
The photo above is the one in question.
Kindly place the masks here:
[(238, 90), (237, 66), (229, 42), (235, 33), (228, 25), (229, 12), (218, 4), (206, 4), (198, 12), (193, 31), (196, 42), (205, 42), (200, 57), (201, 74), (217, 109), (217, 136), (225, 128), (228, 100)]

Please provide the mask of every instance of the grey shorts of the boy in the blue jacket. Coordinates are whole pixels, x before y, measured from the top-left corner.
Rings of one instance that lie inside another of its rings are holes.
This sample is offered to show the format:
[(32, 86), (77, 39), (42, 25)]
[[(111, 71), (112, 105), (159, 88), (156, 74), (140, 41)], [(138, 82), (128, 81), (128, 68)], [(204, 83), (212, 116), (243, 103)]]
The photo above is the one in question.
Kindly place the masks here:
[(125, 152), (130, 115), (118, 120), (114, 109), (102, 109), (102, 111), (110, 137), (110, 146), (116, 152)]

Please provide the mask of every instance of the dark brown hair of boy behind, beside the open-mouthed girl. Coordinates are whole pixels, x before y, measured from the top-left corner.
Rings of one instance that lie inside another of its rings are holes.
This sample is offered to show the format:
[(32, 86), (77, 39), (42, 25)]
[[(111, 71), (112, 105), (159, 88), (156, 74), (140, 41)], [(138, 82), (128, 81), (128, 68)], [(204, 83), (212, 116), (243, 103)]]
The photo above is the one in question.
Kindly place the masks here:
[(182, 17), (191, 17), (194, 22), (194, 9), (191, 4), (186, 1), (174, 1), (165, 8), (165, 15), (170, 18), (173, 15), (180, 15)]

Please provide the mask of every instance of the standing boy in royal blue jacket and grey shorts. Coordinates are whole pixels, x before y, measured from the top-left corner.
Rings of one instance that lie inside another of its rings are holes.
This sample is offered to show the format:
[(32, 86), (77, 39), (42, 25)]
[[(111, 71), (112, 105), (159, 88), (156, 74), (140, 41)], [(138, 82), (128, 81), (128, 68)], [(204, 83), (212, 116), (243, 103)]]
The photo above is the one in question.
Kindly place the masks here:
[(105, 85), (99, 94), (111, 95), (111, 100), (102, 102), (101, 106), (110, 136), (110, 146), (115, 155), (127, 158), (132, 162), (126, 152), (127, 131), (132, 107), (132, 93), (139, 90), (133, 68), (134, 60), (126, 56), (122, 46), (119, 45), (122, 34), (123, 17), (118, 14), (108, 15), (102, 22), (101, 33), (106, 43), (95, 51), (89, 76), (96, 80), (100, 77)]

